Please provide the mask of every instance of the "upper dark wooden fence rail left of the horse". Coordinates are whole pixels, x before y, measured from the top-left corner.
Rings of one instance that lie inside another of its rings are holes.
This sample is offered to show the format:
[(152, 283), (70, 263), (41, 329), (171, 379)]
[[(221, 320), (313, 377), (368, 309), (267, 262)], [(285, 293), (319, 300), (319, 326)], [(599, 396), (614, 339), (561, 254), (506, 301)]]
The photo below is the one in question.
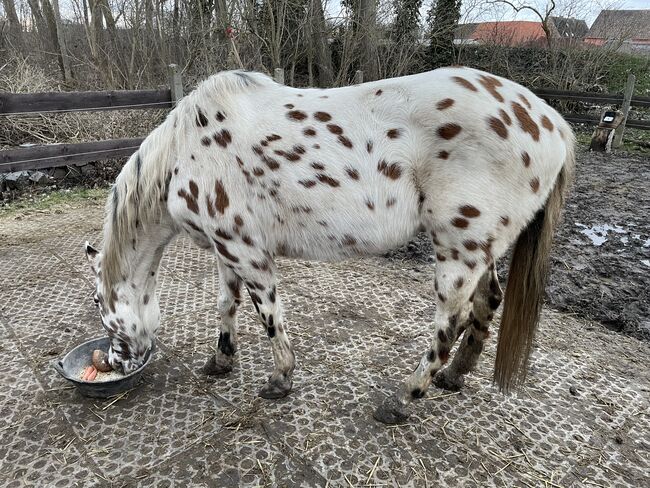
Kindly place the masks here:
[(103, 92), (0, 93), (0, 114), (172, 106), (169, 88)]

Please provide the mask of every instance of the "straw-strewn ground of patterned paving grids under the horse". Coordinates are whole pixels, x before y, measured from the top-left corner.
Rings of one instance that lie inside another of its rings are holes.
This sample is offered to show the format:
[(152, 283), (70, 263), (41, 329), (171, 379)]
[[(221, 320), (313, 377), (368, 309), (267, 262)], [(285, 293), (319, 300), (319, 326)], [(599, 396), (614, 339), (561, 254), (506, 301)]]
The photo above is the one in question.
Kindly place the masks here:
[(179, 239), (160, 270), (162, 329), (144, 381), (109, 401), (80, 397), (50, 361), (102, 334), (82, 254), (102, 211), (0, 221), (0, 485), (647, 482), (650, 348), (548, 309), (517, 394), (491, 386), (492, 337), (461, 393), (432, 388), (408, 424), (375, 422), (431, 335), (433, 265), (394, 259), (279, 261), (297, 369), (293, 392), (266, 401), (256, 391), (268, 339), (248, 303), (234, 370), (200, 374), (217, 338), (216, 263)]

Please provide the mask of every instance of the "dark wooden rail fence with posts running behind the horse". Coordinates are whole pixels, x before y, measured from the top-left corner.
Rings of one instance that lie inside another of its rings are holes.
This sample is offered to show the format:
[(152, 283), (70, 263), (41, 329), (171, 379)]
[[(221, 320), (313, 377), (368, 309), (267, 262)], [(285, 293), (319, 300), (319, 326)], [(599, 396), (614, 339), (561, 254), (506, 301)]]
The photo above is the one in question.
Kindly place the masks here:
[[(275, 70), (275, 79), (282, 82), (284, 72)], [(363, 72), (358, 71), (355, 83), (363, 82)], [(628, 83), (629, 85), (629, 83)], [(633, 80), (632, 80), (633, 87)], [(625, 94), (591, 93), (537, 89), (533, 92), (545, 100), (565, 100), (598, 105), (622, 105), (650, 108), (649, 97), (632, 96), (632, 88)], [(77, 111), (103, 111), (125, 109), (172, 108), (183, 96), (180, 74), (175, 65), (170, 66), (170, 88), (163, 90), (73, 92), (73, 93), (0, 93), (0, 116), (31, 113), (69, 113)], [(625, 113), (627, 115), (627, 113)], [(598, 124), (599, 118), (569, 113), (570, 122)], [(627, 127), (650, 130), (650, 120), (630, 120)], [(620, 134), (622, 137), (622, 132)], [(0, 151), (0, 173), (25, 169), (54, 168), (90, 161), (100, 161), (133, 154), (142, 138), (113, 139), (78, 144), (49, 144)]]

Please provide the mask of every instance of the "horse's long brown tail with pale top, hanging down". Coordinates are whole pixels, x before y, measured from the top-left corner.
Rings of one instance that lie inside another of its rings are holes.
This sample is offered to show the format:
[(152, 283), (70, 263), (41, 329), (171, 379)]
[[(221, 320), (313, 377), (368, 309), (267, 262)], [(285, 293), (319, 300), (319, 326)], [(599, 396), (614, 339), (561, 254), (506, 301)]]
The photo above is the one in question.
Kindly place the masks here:
[(526, 379), (528, 358), (539, 321), (549, 268), (553, 232), (575, 165), (573, 133), (564, 165), (544, 207), (517, 239), (512, 253), (503, 315), (499, 329), (494, 381), (502, 391), (516, 388)]

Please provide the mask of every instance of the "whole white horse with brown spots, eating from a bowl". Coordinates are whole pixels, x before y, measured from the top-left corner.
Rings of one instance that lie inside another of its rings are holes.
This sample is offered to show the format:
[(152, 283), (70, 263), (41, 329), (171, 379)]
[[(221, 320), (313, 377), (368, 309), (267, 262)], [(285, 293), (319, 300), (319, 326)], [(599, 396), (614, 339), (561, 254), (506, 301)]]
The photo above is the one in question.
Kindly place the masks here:
[[(102, 251), (85, 244), (109, 362), (129, 373), (150, 353), (159, 263), (185, 232), (217, 257), (220, 332), (203, 372), (233, 368), (245, 287), (274, 359), (259, 396), (284, 397), (295, 358), (275, 258), (384, 253), (424, 231), (436, 256), (431, 345), (374, 417), (404, 422), (432, 382), (461, 388), (503, 298), (494, 381), (516, 388), (574, 146), (570, 126), (528, 89), (466, 67), (332, 89), (212, 75), (125, 163), (107, 199)], [(511, 245), (504, 297), (495, 261)]]

